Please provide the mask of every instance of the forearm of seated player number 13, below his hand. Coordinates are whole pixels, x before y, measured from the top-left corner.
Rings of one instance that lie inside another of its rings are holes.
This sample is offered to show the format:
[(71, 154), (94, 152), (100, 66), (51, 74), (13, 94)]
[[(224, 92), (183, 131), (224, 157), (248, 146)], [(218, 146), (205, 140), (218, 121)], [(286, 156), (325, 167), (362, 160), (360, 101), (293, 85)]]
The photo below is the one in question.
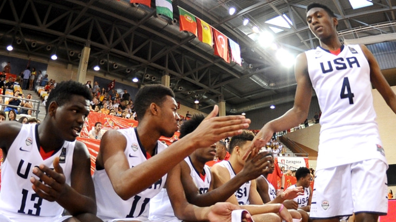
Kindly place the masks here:
[(66, 186), (66, 192), (56, 201), (60, 206), (72, 216), (84, 213), (96, 215), (97, 205), (95, 200), (78, 193), (68, 185)]

